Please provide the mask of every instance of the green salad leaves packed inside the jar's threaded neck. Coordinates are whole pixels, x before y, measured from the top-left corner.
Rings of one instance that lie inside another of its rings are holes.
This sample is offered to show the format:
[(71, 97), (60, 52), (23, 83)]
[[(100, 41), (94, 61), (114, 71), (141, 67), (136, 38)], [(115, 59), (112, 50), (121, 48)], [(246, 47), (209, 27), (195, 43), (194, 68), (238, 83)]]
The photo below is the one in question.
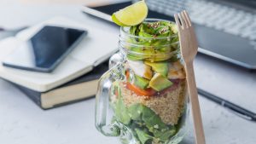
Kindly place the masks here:
[(128, 37), (129, 39), (126, 40), (128, 43), (132, 43), (128, 44), (126, 48), (135, 52), (128, 54), (128, 59), (154, 62), (169, 60), (173, 57), (173, 60), (177, 60), (175, 52), (179, 49), (179, 45), (175, 24), (168, 21), (144, 21), (137, 26), (131, 26), (129, 33), (137, 37)]

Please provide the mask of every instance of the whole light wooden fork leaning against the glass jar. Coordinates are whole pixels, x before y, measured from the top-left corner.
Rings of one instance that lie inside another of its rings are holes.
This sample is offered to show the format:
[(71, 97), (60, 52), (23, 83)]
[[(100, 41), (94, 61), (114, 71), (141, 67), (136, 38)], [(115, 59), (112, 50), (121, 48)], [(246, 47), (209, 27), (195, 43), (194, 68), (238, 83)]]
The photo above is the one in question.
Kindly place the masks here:
[(198, 49), (195, 32), (193, 26), (191, 25), (189, 14), (185, 10), (179, 14), (174, 14), (174, 18), (177, 24), (181, 55), (185, 63), (185, 71), (187, 74), (187, 84), (189, 88), (189, 98), (191, 101), (192, 117), (195, 130), (195, 142), (197, 144), (205, 144), (206, 140), (201, 120), (201, 112), (193, 67), (193, 60)]

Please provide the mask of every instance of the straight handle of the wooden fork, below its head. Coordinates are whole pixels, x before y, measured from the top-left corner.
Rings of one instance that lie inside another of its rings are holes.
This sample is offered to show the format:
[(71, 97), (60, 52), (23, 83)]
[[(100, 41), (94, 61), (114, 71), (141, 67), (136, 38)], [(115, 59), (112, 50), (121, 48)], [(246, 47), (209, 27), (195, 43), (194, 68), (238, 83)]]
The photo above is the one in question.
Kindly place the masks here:
[(198, 93), (195, 84), (193, 61), (186, 63), (185, 71), (187, 73), (187, 84), (189, 89), (189, 98), (191, 102), (192, 118), (194, 122), (195, 142), (196, 144), (206, 144), (203, 124), (201, 120), (200, 105), (198, 101)]

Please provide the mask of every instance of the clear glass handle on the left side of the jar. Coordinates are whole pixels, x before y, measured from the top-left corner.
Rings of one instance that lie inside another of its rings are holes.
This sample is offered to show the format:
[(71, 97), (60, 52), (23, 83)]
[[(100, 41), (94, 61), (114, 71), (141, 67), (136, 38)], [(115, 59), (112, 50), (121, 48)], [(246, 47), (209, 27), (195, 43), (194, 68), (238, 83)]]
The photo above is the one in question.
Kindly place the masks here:
[(105, 72), (100, 78), (96, 93), (96, 129), (106, 136), (119, 136), (120, 128), (117, 124), (108, 122), (108, 102), (111, 95), (113, 82), (122, 79), (122, 64), (113, 66), (108, 72)]

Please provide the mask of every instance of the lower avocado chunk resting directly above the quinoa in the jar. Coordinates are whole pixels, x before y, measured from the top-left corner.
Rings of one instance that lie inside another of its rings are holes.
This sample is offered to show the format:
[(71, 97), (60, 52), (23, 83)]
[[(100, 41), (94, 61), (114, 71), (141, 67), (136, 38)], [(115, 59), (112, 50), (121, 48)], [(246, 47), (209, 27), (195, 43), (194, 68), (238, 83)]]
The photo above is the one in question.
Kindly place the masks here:
[(161, 91), (162, 89), (166, 89), (172, 86), (172, 82), (162, 76), (160, 73), (155, 73), (154, 77), (149, 82), (149, 87), (156, 91)]

